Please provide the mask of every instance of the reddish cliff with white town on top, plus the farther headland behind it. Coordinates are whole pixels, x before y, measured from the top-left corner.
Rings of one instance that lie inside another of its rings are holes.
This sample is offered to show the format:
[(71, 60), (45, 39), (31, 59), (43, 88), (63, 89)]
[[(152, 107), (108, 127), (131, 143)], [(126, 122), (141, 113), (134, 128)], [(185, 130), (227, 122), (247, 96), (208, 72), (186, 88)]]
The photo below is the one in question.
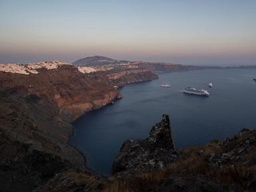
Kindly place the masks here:
[(73, 65), (58, 61), (0, 67), (1, 90), (15, 89), (47, 99), (71, 120), (120, 99), (121, 95), (114, 88), (116, 85), (157, 78), (147, 69), (118, 68), (81, 73)]

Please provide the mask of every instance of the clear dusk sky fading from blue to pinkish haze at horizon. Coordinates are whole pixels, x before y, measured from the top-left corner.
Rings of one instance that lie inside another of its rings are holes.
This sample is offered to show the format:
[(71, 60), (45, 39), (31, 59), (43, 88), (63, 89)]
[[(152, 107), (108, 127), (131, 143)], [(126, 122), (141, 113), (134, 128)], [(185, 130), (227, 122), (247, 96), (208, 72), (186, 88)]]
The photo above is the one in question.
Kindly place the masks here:
[(0, 63), (256, 65), (255, 0), (0, 0)]

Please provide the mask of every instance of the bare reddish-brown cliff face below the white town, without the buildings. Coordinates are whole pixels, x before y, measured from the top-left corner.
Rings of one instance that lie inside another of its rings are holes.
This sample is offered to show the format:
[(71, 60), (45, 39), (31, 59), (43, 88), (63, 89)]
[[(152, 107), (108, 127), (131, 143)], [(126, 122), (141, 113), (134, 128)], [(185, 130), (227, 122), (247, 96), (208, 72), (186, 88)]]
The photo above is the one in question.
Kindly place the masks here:
[(31, 75), (1, 73), (0, 89), (15, 89), (19, 93), (43, 97), (57, 105), (71, 120), (121, 98), (107, 77), (80, 73), (72, 65), (37, 71), (38, 74)]

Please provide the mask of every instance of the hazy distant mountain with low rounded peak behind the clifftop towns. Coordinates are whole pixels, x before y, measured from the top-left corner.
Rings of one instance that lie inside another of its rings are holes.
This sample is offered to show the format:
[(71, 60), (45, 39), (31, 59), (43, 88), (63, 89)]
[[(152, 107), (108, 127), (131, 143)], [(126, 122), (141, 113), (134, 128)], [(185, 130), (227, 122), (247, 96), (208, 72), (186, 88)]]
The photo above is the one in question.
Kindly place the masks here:
[(88, 67), (100, 67), (103, 65), (117, 65), (120, 63), (124, 63), (127, 61), (119, 61), (117, 59), (111, 59), (109, 57), (103, 57), (103, 56), (92, 56), (92, 57), (85, 57), (83, 59), (78, 59), (77, 61), (73, 62), (72, 64), (81, 67), (81, 66), (88, 66)]

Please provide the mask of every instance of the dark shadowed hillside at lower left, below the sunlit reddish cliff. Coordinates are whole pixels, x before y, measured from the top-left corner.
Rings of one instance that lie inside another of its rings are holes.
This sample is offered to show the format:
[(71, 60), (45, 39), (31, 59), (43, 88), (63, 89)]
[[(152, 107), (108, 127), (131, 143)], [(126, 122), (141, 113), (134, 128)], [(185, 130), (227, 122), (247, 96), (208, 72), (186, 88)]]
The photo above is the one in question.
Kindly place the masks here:
[(66, 169), (85, 169), (67, 145), (65, 115), (49, 101), (14, 89), (0, 91), (0, 190), (32, 191)]

